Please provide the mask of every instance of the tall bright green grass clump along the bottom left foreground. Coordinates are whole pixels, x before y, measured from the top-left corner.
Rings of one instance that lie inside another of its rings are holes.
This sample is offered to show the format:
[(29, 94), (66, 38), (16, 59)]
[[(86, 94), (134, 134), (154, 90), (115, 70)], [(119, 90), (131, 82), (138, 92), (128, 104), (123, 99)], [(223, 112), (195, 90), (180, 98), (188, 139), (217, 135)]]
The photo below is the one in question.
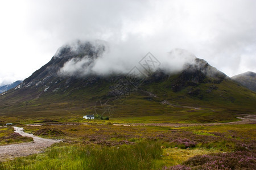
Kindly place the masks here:
[(55, 146), (43, 154), (1, 163), (1, 169), (152, 169), (162, 155), (159, 142), (120, 147)]

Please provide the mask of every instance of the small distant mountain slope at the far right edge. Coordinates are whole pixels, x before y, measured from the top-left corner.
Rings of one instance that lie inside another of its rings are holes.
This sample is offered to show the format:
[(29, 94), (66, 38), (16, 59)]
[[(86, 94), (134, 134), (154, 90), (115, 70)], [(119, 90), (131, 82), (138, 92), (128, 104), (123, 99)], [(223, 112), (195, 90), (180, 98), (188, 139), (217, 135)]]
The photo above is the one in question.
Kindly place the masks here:
[(247, 71), (246, 73), (232, 76), (232, 79), (256, 92), (256, 73)]

